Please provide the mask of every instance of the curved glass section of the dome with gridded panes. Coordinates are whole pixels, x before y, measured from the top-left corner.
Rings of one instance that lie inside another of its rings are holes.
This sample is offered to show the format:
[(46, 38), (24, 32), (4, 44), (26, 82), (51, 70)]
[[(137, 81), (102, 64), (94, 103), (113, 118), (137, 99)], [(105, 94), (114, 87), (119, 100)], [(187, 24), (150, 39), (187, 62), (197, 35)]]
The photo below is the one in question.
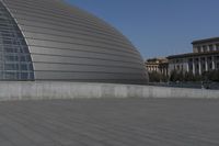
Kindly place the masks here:
[(34, 80), (33, 64), (26, 42), (1, 2), (0, 80)]

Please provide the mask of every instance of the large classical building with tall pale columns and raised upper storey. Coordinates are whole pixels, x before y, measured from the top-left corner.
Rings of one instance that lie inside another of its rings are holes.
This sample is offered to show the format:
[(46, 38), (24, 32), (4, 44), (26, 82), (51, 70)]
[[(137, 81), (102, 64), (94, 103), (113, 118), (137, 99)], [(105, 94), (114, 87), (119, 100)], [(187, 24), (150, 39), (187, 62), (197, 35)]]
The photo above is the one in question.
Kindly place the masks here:
[(219, 69), (219, 37), (194, 41), (193, 53), (169, 56), (169, 75), (173, 71), (201, 75)]

